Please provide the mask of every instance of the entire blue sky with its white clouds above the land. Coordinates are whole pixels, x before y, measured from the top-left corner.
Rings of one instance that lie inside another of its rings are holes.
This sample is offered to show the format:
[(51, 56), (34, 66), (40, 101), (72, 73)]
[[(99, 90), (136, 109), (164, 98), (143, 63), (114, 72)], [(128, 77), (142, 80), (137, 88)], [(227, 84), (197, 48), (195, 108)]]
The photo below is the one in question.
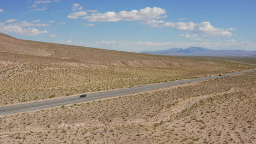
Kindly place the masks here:
[(121, 51), (256, 50), (255, 1), (3, 0), (0, 32)]

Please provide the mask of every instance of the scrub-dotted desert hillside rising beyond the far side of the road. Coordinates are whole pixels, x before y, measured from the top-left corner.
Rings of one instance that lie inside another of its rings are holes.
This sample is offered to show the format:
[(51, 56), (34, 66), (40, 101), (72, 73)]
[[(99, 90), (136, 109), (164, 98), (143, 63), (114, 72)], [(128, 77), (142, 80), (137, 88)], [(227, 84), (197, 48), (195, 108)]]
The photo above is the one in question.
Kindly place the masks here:
[(0, 105), (228, 73), (254, 66), (0, 35)]

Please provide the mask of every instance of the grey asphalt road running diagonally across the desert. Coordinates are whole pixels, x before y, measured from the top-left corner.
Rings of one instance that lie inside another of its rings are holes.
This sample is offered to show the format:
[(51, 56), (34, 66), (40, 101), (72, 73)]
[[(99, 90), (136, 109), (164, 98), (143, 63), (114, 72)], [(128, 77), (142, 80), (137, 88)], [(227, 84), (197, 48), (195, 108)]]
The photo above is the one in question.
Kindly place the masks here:
[[(238, 74), (242, 74), (242, 73), (246, 73), (246, 72), (254, 71), (254, 70), (256, 70), (256, 69), (240, 71), (240, 72), (236, 72), (236, 73), (228, 73), (228, 74), (224, 74), (221, 77), (238, 75)], [(213, 76), (201, 77), (201, 78), (197, 78), (197, 79), (186, 79), (186, 80), (181, 80), (181, 81), (171, 81), (171, 82), (157, 83), (157, 84), (147, 85), (147, 86), (91, 93), (91, 94), (87, 94), (87, 96), (84, 98), (79, 98), (79, 95), (75, 95), (73, 97), (65, 97), (65, 98), (43, 100), (43, 101), (24, 103), (24, 104), (1, 106), (0, 107), (0, 115), (8, 115), (8, 114), (12, 114), (12, 113), (20, 113), (20, 112), (46, 109), (46, 108), (50, 108), (50, 107), (67, 105), (67, 104), (82, 103), (85, 101), (93, 101), (93, 100), (97, 100), (97, 99), (101, 99), (101, 98), (115, 97), (115, 96), (121, 96), (121, 95), (127, 95), (127, 94), (132, 94), (132, 93), (139, 93), (139, 92), (146, 92), (146, 91), (151, 91), (151, 90), (159, 89), (159, 88), (182, 85), (183, 83), (216, 79), (218, 77), (220, 77), (220, 76), (213, 75)]]

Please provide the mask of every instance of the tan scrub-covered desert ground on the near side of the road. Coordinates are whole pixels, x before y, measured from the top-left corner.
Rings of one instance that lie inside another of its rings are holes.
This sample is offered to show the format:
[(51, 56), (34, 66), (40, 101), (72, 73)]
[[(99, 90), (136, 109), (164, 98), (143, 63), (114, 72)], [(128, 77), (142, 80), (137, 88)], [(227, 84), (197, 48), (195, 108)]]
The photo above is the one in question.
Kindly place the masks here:
[(0, 118), (0, 143), (255, 143), (256, 73)]

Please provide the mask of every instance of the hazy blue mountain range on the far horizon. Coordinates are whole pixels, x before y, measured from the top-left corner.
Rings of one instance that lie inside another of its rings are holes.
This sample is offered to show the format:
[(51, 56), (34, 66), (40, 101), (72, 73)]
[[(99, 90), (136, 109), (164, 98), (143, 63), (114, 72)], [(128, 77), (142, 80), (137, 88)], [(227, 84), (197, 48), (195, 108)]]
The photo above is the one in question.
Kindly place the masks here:
[(142, 51), (152, 55), (165, 55), (165, 56), (245, 56), (256, 57), (256, 51), (246, 50), (211, 50), (203, 47), (188, 47), (187, 49), (172, 48), (168, 50), (158, 51)]

